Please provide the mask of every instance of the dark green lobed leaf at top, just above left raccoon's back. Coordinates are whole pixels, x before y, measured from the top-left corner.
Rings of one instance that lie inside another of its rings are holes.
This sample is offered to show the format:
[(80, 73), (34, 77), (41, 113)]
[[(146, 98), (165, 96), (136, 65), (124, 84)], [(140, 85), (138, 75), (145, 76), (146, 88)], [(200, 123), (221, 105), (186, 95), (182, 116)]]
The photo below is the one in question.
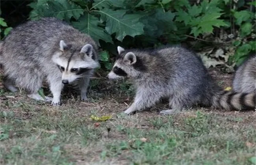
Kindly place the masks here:
[(56, 17), (61, 20), (69, 21), (71, 17), (76, 20), (83, 15), (83, 9), (74, 2), (67, 0), (41, 0), (37, 4), (29, 4), (34, 10), (30, 18), (38, 19), (39, 17)]

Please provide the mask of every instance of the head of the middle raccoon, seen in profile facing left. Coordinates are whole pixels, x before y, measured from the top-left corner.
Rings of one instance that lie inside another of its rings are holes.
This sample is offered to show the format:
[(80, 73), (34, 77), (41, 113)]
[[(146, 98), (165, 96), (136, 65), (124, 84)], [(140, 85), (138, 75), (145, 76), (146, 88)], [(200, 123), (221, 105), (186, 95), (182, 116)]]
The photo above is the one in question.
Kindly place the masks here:
[(117, 47), (117, 51), (119, 57), (115, 61), (111, 72), (108, 73), (108, 79), (120, 79), (123, 77), (136, 78), (141, 72), (146, 70), (141, 59), (135, 53), (131, 51), (125, 53), (124, 48), (121, 46)]

